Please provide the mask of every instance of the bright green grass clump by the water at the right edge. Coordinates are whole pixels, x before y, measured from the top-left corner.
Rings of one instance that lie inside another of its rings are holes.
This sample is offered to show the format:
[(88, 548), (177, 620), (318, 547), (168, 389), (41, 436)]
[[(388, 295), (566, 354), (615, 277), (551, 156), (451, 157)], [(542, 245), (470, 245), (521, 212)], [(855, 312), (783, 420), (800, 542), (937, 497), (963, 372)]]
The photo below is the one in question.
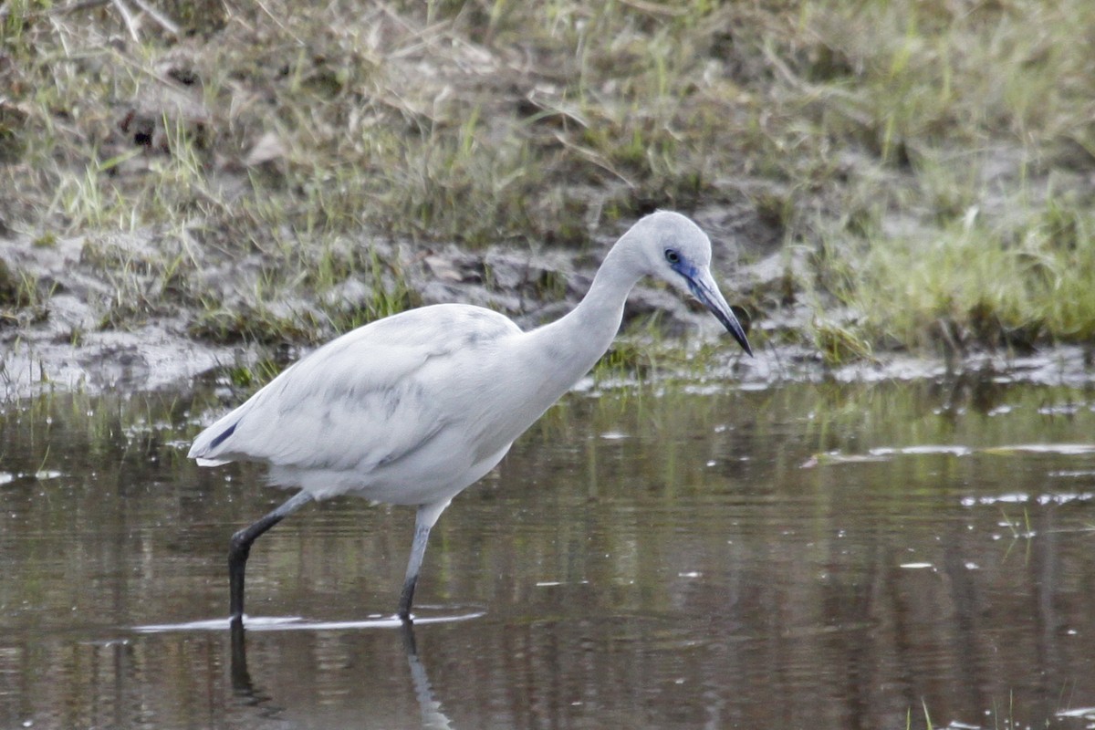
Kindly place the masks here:
[(1050, 198), (991, 220), (959, 220), (862, 247), (833, 245), (819, 267), (828, 289), (862, 316), (853, 339), (913, 348), (1028, 350), (1095, 338), (1095, 217)]

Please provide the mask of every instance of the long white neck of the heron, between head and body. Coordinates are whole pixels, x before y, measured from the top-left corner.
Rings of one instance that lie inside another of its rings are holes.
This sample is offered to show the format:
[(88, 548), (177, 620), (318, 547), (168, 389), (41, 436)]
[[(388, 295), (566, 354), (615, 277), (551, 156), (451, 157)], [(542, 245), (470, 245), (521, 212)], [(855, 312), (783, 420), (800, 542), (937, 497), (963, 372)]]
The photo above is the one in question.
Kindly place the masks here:
[(626, 244), (618, 242), (578, 305), (560, 320), (528, 333), (535, 357), (552, 363), (550, 381), (558, 391), (556, 397), (589, 372), (619, 332), (627, 294), (639, 279), (630, 255)]

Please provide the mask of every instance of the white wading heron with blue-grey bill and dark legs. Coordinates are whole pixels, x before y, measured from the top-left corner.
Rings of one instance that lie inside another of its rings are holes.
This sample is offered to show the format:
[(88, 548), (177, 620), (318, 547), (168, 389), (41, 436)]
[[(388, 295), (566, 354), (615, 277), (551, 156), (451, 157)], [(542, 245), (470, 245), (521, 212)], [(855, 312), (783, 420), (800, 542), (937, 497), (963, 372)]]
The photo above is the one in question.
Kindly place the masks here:
[(752, 355), (710, 264), (711, 242), (695, 223), (650, 213), (612, 246), (581, 302), (551, 324), (523, 332), (469, 304), (394, 314), (311, 352), (201, 431), (189, 451), (199, 465), (264, 463), (273, 484), (300, 489), (232, 535), (232, 624), (242, 625), (255, 538), (313, 499), (346, 494), (417, 508), (399, 604), (410, 619), (438, 517), (600, 359), (641, 278), (693, 294)]

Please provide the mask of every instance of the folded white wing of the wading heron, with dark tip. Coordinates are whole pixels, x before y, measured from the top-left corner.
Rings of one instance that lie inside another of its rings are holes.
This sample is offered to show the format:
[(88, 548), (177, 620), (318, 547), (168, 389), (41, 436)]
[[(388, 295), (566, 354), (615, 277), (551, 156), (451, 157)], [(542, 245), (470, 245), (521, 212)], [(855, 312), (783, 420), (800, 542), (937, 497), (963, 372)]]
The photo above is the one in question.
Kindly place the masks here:
[(477, 306), (438, 304), (359, 327), (307, 356), (194, 440), (199, 464), (267, 462), (299, 470), (367, 473), (423, 447), (459, 414), (427, 362), (466, 362), (519, 333)]

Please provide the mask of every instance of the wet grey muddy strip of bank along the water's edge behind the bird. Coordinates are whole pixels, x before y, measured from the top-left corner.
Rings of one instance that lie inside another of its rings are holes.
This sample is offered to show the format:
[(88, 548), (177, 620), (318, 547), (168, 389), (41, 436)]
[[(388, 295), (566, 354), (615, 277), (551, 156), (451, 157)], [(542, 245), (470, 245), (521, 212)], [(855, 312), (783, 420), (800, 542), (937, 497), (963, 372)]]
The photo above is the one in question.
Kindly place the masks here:
[[(456, 245), (423, 247), (383, 241), (346, 245), (368, 248), (385, 262), (385, 270), (397, 273), (399, 286), (410, 292), (413, 305), (469, 302), (505, 312), (529, 328), (574, 306), (610, 243), (606, 237), (597, 254), (552, 248), (518, 252), (504, 246), (470, 253)], [(874, 354), (832, 367), (809, 340), (811, 310), (793, 299), (781, 299), (786, 279), (800, 274), (799, 263), (777, 252), (736, 267), (733, 241), (717, 242), (716, 250), (724, 291), (731, 303), (747, 303), (746, 311), (753, 318), (751, 337), (760, 344), (758, 356), (741, 357), (728, 340), (723, 341), (717, 323), (702, 308), (649, 285), (639, 285), (629, 300), (625, 341), (655, 354), (667, 349), (696, 352), (701, 344), (714, 345), (715, 355), (705, 354), (688, 374), (749, 387), (787, 380), (946, 379), (964, 373), (1071, 385), (1092, 381), (1091, 355), (1073, 346), (1022, 356), (982, 351), (946, 359)], [(181, 251), (193, 268), (188, 286), (200, 287), (200, 296), (172, 292), (170, 278), (153, 264)], [(378, 288), (393, 286), (377, 276), (369, 282), (347, 278), (319, 293), (298, 287), (291, 296), (263, 302), (262, 312), (278, 317), (280, 325), (314, 325), (300, 338), (216, 341), (203, 336), (208, 334), (203, 327), (208, 325), (209, 312), (199, 303), (216, 301), (222, 309), (238, 308), (244, 317), (256, 312), (254, 292), (264, 276), (261, 252), (224, 256), (150, 233), (74, 236), (48, 245), (26, 239), (0, 241), (0, 259), (16, 287), (22, 280), (36, 282), (36, 299), (13, 309), (0, 324), (0, 397), (7, 401), (54, 389), (99, 393), (177, 387), (219, 367), (260, 358), (289, 361), (348, 328), (339, 327), (332, 313), (360, 315), (377, 299)], [(113, 262), (115, 268), (104, 267), (104, 260)], [(118, 287), (119, 276), (127, 278), (125, 288)], [(129, 291), (131, 300), (119, 301), (120, 291)], [(127, 316), (116, 326), (112, 317), (119, 308)]]

